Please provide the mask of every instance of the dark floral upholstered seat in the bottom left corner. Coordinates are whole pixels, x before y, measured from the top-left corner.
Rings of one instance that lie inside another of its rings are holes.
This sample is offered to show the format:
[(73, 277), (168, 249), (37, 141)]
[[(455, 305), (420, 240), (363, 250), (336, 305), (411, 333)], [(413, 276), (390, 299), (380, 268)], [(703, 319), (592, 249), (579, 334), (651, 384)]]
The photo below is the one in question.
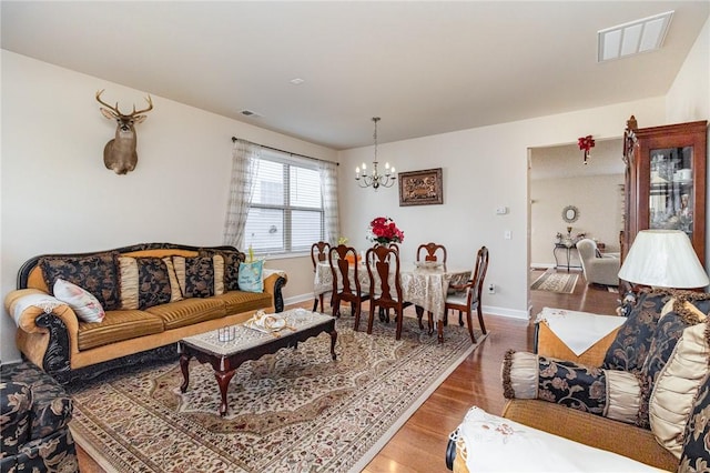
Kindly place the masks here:
[(71, 397), (32, 363), (0, 368), (0, 472), (77, 472)]

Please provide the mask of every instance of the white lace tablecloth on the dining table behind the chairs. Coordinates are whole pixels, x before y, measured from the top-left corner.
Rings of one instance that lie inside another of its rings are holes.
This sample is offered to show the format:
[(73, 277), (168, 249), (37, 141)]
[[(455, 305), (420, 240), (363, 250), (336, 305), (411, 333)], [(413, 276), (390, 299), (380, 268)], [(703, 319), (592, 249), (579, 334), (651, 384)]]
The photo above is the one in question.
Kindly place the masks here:
[[(369, 291), (369, 275), (364, 263), (358, 263), (357, 279), (363, 293)], [(373, 271), (373, 275), (377, 273)], [(354, 271), (349, 274), (354, 286)], [(446, 293), (452, 282), (463, 284), (470, 278), (470, 270), (439, 268), (416, 268), (414, 263), (403, 263), (399, 269), (402, 293), (405, 301), (432, 312), (435, 320), (444, 320), (444, 304)], [(375, 281), (378, 285), (379, 281)], [(394, 288), (394, 273), (390, 274), (389, 285)], [(313, 280), (313, 293), (317, 296), (333, 290), (333, 273), (328, 263), (316, 264)]]

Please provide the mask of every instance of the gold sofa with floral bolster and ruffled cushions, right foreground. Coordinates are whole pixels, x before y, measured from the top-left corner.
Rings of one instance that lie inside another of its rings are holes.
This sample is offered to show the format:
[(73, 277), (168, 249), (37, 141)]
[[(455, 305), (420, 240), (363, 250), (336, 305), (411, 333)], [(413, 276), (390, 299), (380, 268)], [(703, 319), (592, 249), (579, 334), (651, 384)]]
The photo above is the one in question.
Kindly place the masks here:
[[(627, 320), (597, 360), (546, 356), (542, 338), (537, 354), (508, 352), (503, 416), (657, 469), (708, 471), (710, 294), (643, 291), (622, 310)], [(474, 455), (474, 465), (491, 450), (458, 454), (463, 445), (449, 442), (454, 471), (467, 471), (462, 457)]]

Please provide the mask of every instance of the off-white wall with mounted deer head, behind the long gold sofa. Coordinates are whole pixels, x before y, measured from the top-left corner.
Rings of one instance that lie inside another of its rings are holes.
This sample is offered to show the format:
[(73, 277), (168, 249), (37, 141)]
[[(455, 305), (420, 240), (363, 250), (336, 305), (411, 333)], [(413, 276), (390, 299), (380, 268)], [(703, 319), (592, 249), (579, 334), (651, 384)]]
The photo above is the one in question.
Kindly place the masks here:
[[(232, 135), (320, 159), (335, 151), (153, 97), (138, 125), (139, 163), (126, 175), (103, 165), (115, 124), (94, 100), (144, 104), (139, 91), (2, 50), (2, 298), (20, 265), (44, 253), (141, 242), (222, 244)], [(310, 259), (267, 262), (296, 275)], [(286, 298), (312, 291), (292, 276)], [(4, 312), (4, 311), (3, 311)], [(17, 360), (14, 324), (0, 318), (0, 355)]]

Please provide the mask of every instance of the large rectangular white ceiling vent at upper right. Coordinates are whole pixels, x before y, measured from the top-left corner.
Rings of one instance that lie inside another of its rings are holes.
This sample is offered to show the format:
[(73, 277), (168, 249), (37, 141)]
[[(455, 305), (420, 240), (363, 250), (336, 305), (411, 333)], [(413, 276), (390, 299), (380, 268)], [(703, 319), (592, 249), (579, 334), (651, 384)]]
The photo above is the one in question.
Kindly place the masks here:
[(597, 31), (599, 62), (660, 49), (672, 11)]

